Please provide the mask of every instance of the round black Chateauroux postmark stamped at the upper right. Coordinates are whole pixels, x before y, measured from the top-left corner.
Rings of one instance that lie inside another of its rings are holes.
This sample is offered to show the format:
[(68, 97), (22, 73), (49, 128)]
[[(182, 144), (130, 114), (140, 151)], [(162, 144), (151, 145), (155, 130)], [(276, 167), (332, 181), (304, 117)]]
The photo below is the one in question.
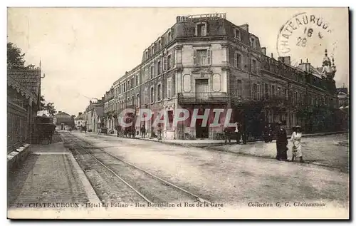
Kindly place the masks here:
[(336, 47), (333, 29), (322, 16), (309, 13), (295, 14), (281, 26), (277, 37), (278, 56), (308, 58), (311, 53), (323, 56), (328, 48), (333, 53)]

